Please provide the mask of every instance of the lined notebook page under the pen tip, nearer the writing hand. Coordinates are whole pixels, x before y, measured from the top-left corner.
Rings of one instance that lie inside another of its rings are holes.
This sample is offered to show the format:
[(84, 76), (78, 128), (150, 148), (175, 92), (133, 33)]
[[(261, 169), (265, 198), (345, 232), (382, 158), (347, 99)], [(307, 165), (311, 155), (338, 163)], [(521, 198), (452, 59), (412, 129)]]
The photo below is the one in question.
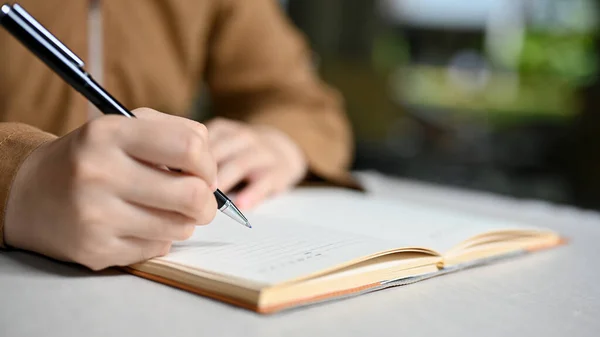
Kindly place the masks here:
[(293, 220), (257, 215), (251, 222), (248, 229), (217, 214), (160, 260), (274, 284), (395, 248), (393, 242)]

